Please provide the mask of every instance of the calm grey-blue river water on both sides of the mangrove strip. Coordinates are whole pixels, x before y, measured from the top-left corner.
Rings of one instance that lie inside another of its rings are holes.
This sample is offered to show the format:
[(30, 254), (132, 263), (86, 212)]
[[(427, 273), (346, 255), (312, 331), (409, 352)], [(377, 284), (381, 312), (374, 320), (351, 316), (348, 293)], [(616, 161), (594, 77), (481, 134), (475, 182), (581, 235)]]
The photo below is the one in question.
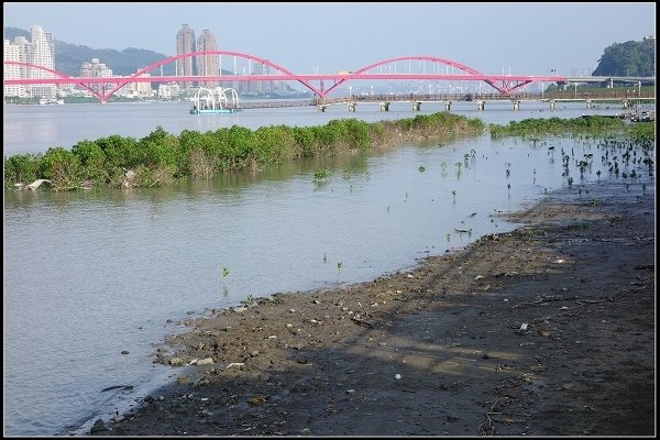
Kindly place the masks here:
[[(349, 116), (344, 108), (198, 118), (187, 114), (187, 105), (9, 107), (6, 155), (114, 133), (143, 136), (157, 124), (180, 132), (233, 123), (311, 125)], [(365, 120), (413, 114), (361, 110), (353, 114)], [(541, 110), (466, 108), (465, 114), (498, 123), (552, 114)], [(152, 363), (152, 353), (186, 317), (249, 295), (373, 279), (514, 229), (497, 213), (566, 185), (561, 148), (597, 156), (588, 142), (486, 135), (166, 188), (6, 193), (4, 433), (86, 433), (97, 418), (124, 411), (172, 376)], [(315, 180), (319, 167), (330, 169), (330, 178)], [(594, 160), (584, 182), (595, 180), (598, 169), (608, 175)], [(117, 385), (134, 388), (101, 392)]]

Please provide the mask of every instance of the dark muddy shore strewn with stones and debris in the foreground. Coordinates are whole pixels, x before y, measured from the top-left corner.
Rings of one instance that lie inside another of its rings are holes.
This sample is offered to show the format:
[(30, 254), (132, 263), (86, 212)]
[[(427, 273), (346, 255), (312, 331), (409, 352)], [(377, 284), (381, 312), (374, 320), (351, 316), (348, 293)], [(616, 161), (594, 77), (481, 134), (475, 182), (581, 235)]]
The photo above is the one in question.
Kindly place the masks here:
[(508, 217), (411, 271), (190, 319), (154, 354), (176, 382), (96, 433), (654, 436), (654, 189)]

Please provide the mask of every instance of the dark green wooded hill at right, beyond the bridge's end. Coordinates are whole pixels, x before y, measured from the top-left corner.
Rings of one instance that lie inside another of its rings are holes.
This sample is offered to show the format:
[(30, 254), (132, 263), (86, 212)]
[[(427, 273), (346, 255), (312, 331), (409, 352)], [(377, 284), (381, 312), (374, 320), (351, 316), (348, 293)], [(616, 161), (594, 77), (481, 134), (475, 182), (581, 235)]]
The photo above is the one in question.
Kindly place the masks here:
[(594, 76), (656, 76), (656, 38), (614, 43), (598, 59)]

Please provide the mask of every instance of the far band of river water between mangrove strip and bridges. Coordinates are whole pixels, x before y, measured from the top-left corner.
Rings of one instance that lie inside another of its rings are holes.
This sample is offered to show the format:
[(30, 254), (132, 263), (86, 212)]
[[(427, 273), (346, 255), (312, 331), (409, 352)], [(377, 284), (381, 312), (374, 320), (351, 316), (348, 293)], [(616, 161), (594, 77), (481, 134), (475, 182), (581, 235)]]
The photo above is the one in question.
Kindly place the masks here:
[[(513, 111), (509, 101), (488, 101), (485, 111), (477, 111), (475, 102), (454, 102), (452, 112), (469, 118), (481, 118), (488, 123), (508, 123), (527, 118), (575, 118), (582, 114), (616, 114), (625, 110), (620, 106), (598, 105), (591, 110), (584, 102), (558, 103), (550, 111), (548, 102), (524, 101), (519, 111)], [(386, 119), (411, 118), (409, 102), (393, 102), (391, 111), (382, 112), (378, 103), (360, 103), (350, 113), (346, 106), (332, 106), (326, 112), (315, 107), (279, 109), (253, 109), (234, 114), (188, 114), (189, 102), (145, 103), (92, 103), (64, 106), (6, 105), (3, 114), (4, 155), (16, 153), (44, 153), (52, 146), (70, 148), (77, 142), (96, 140), (112, 134), (144, 138), (157, 125), (167, 132), (179, 134), (183, 130), (208, 131), (233, 124), (257, 129), (268, 125), (322, 125), (332, 119), (359, 118), (367, 122)], [(442, 102), (425, 102), (421, 113), (444, 110)]]

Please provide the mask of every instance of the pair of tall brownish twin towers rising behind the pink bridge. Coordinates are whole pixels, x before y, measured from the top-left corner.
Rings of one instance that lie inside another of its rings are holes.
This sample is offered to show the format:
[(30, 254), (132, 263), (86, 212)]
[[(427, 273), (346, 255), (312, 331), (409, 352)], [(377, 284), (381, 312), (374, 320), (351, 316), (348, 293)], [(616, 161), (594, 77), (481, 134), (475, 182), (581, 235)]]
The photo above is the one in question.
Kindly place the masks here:
[[(201, 31), (201, 35), (195, 40), (195, 31), (187, 24), (176, 33), (176, 54), (187, 54), (200, 51), (218, 51), (216, 36), (208, 29)], [(176, 76), (217, 76), (220, 75), (220, 56), (201, 55), (190, 56), (176, 61)], [(201, 87), (215, 87), (219, 81), (199, 81)], [(182, 81), (179, 86), (187, 88), (194, 86), (193, 81)]]

